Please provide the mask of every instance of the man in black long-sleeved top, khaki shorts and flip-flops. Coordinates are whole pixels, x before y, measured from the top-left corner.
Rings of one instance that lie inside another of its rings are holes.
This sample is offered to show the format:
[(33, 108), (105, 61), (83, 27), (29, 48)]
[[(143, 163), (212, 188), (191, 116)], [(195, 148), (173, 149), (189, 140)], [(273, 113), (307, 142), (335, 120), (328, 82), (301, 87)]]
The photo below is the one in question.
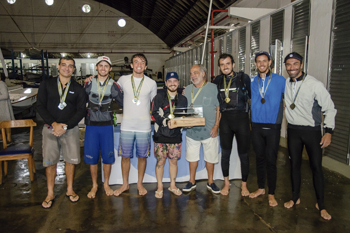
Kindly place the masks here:
[(83, 86), (71, 79), (75, 61), (62, 57), (58, 63), (58, 77), (45, 79), (38, 90), (37, 109), (45, 125), (43, 134), (43, 166), (46, 167), (48, 194), (42, 203), (44, 209), (52, 206), (57, 162), (60, 152), (65, 161), (66, 196), (79, 201), (73, 191), (75, 165), (80, 163), (78, 123), (85, 116), (86, 96)]

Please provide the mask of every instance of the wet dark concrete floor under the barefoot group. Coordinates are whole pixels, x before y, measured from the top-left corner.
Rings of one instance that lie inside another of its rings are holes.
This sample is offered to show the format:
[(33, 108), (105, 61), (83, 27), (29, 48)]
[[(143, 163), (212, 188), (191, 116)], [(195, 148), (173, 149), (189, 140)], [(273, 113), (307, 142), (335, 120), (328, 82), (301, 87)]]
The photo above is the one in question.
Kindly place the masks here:
[[(241, 197), (240, 180), (231, 181), (228, 196), (214, 195), (206, 182), (198, 181), (197, 189), (177, 197), (164, 185), (162, 199), (154, 197), (156, 184), (145, 184), (148, 194), (139, 196), (136, 184), (119, 197), (106, 196), (99, 167), (99, 191), (87, 198), (91, 189), (89, 167), (81, 162), (76, 167), (73, 188), (80, 201), (71, 203), (65, 197), (64, 163), (58, 164), (55, 202), (42, 209), (47, 194), (45, 169), (42, 166), (41, 129), (43, 121), (34, 118), (34, 182), (29, 180), (26, 160), (9, 161), (8, 175), (0, 186), (0, 232), (350, 232), (350, 179), (324, 169), (325, 204), (332, 215), (329, 221), (315, 208), (316, 197), (308, 161), (302, 164), (301, 204), (291, 209), (283, 203), (291, 198), (289, 161), (286, 148), (278, 154), (278, 181), (275, 197), (278, 206), (269, 207), (267, 194), (255, 199)], [(26, 141), (28, 131), (13, 131), (15, 144)], [(28, 137), (29, 138), (29, 137)], [(81, 151), (83, 161), (83, 148)], [(257, 189), (255, 157), (250, 152), (248, 189)], [(221, 187), (223, 181), (217, 180)], [(178, 183), (179, 188), (186, 183)], [(13, 187), (15, 186), (15, 187)], [(120, 185), (113, 185), (112, 189)]]

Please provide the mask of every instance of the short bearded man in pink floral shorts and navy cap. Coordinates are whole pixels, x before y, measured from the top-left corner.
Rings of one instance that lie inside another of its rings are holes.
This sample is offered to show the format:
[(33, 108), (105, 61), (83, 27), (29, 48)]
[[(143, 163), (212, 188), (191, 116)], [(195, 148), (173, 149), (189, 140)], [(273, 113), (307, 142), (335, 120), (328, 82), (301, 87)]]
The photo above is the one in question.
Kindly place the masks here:
[[(182, 194), (175, 185), (177, 174), (177, 159), (181, 157), (182, 128), (172, 128), (170, 119), (174, 118), (174, 112), (181, 112), (179, 108), (187, 107), (185, 96), (177, 93), (179, 87), (179, 76), (176, 72), (169, 72), (166, 76), (167, 92), (157, 94), (152, 101), (152, 117), (154, 124), (154, 156), (157, 159), (155, 174), (158, 189), (156, 198), (163, 197), (163, 172), (164, 164), (169, 157), (170, 187), (169, 191), (179, 196)], [(179, 110), (175, 110), (175, 108)]]

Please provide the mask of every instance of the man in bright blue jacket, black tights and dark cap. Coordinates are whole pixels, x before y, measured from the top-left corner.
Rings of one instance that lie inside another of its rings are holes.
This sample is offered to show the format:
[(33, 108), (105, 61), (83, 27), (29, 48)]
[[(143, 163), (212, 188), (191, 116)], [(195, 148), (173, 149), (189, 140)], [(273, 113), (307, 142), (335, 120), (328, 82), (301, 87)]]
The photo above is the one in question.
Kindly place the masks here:
[(268, 203), (276, 206), (274, 197), (277, 175), (277, 152), (280, 143), (283, 118), (283, 98), (286, 79), (269, 70), (271, 57), (268, 52), (255, 54), (258, 75), (251, 78), (252, 142), (257, 160), (258, 190), (249, 197), (265, 194), (267, 173)]

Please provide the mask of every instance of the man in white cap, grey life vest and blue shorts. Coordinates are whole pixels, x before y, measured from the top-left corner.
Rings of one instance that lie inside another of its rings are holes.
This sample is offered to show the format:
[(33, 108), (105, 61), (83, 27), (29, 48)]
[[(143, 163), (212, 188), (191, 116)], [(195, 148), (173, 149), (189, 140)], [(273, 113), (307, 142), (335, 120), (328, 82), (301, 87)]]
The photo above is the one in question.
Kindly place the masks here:
[(90, 164), (92, 189), (87, 197), (94, 198), (97, 192), (97, 170), (100, 156), (103, 162), (104, 189), (107, 196), (113, 195), (109, 187), (109, 177), (114, 163), (113, 140), (113, 98), (123, 106), (123, 93), (119, 85), (109, 75), (112, 64), (109, 57), (97, 58), (96, 70), (98, 75), (85, 83), (85, 92), (89, 96), (87, 114), (85, 117), (84, 161)]

